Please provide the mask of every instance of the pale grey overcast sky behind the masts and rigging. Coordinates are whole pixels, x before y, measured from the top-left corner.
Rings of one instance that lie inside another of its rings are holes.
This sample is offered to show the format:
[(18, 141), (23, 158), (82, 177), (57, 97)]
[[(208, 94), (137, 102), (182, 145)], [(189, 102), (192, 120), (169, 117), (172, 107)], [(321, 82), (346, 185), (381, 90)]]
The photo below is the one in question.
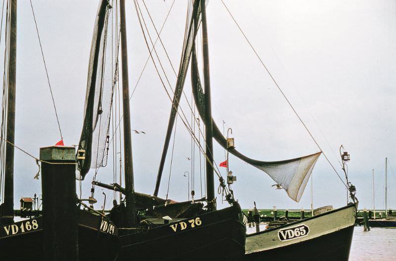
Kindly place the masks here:
[[(78, 144), (99, 1), (32, 2), (64, 142)], [(176, 71), (183, 44), (186, 3), (175, 2), (161, 33)], [(385, 157), (390, 162), (388, 206), (395, 208), (396, 2), (225, 0), (225, 3), (342, 177), (340, 145), (350, 153), (349, 181), (356, 185), (359, 208), (372, 208), (373, 169), (376, 207), (384, 208)], [(172, 1), (147, 0), (146, 4), (155, 26), (160, 28)], [(147, 13), (144, 14), (150, 26)], [(264, 161), (319, 151), (221, 1), (208, 3), (207, 19), (213, 117), (219, 127), (224, 121), (226, 128), (232, 128), (236, 148)], [(149, 30), (155, 38), (152, 26)], [(148, 58), (132, 1), (127, 1), (127, 34), (132, 90)], [(174, 87), (176, 77), (160, 45), (157, 48)], [(190, 78), (186, 80), (185, 93), (191, 102)], [(55, 144), (60, 135), (27, 1), (18, 2), (16, 106), (15, 144), (38, 157), (39, 148)], [(136, 191), (153, 193), (170, 108), (171, 102), (149, 62), (131, 99), (132, 129), (147, 133), (132, 135)], [(191, 117), (185, 100), (182, 108)], [(160, 197), (167, 193), (170, 152)], [(217, 165), (224, 161), (224, 150), (217, 144), (214, 153)], [(187, 200), (188, 183), (183, 174), (192, 173), (187, 157), (191, 158), (191, 138), (179, 121), (169, 185), (169, 197), (174, 200)], [(199, 161), (198, 153), (195, 159)], [(109, 168), (99, 171), (98, 180), (112, 182), (112, 161), (109, 156)], [(269, 176), (235, 157), (230, 157), (230, 170), (237, 176), (233, 189), (243, 208), (251, 208), (253, 201), (259, 208), (310, 208), (310, 182), (301, 201), (296, 203), (285, 191), (271, 187), (275, 182)], [(225, 169), (221, 171), (224, 175)], [(36, 172), (35, 160), (16, 151), (15, 207), (21, 196), (41, 194), (41, 180), (33, 179)], [(83, 182), (83, 197), (90, 193), (92, 177), (93, 172)], [(196, 168), (196, 198), (201, 196), (200, 179), (203, 181)], [(101, 191), (96, 189), (97, 208), (103, 201)], [(112, 193), (108, 195), (108, 199), (112, 198)], [(226, 207), (220, 198), (219, 208)], [(111, 200), (107, 202), (109, 207)], [(322, 155), (313, 170), (313, 206), (345, 204), (344, 185)]]

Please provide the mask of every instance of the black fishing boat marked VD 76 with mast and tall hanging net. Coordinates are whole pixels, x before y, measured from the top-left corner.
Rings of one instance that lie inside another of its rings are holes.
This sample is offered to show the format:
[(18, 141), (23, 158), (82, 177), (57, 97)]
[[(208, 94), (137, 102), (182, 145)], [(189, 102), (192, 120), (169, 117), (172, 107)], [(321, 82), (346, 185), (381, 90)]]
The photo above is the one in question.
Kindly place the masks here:
[[(198, 8), (200, 1), (190, 5), (189, 29), (186, 38), (192, 34), (193, 19), (200, 14), (204, 17), (204, 7)], [(203, 5), (202, 5), (203, 6)], [(116, 82), (113, 74), (106, 78), (108, 70), (105, 63), (106, 51), (110, 51), (110, 41), (105, 40), (108, 19), (106, 10), (118, 10), (118, 2), (102, 0), (99, 4), (97, 21), (94, 29), (94, 40), (91, 48), (89, 81), (87, 85), (86, 110), (83, 131), (78, 151), (84, 156), (78, 159), (78, 167), (82, 178), (91, 168), (104, 166), (106, 159), (104, 149), (109, 141), (109, 112), (111, 97)], [(199, 9), (199, 11), (198, 11)], [(125, 1), (119, 2), (121, 61), (120, 69), (123, 88), (123, 145), (125, 169), (125, 188), (118, 184), (106, 185), (96, 180), (95, 186), (103, 186), (122, 192), (124, 200), (117, 204), (108, 215), (118, 227), (120, 253), (118, 260), (201, 260), (210, 256), (219, 260), (240, 260), (245, 254), (246, 226), (245, 217), (238, 202), (231, 193), (227, 193), (230, 207), (216, 210), (214, 198), (213, 160), (207, 159), (206, 174), (207, 197), (202, 200), (179, 202), (135, 192), (134, 173), (132, 167), (131, 123), (129, 112), (128, 86), (128, 52), (126, 43)], [(118, 22), (117, 22), (118, 23)], [(114, 34), (118, 35), (118, 33)], [(191, 41), (193, 39), (189, 39)], [(108, 45), (106, 45), (108, 43)], [(118, 45), (117, 41), (115, 41)], [(187, 48), (187, 46), (185, 46)], [(114, 48), (116, 49), (116, 48)], [(188, 50), (184, 50), (188, 52)], [(118, 54), (118, 53), (117, 53)], [(111, 51), (110, 51), (111, 55)], [(104, 57), (104, 58), (103, 58)], [(118, 60), (116, 63), (118, 65)], [(104, 68), (104, 69), (103, 69)], [(180, 74), (185, 74), (181, 70)], [(179, 81), (179, 80), (178, 80)], [(208, 94), (209, 92), (207, 92)], [(209, 130), (209, 128), (207, 128)], [(210, 134), (209, 134), (210, 135)], [(211, 138), (208, 138), (208, 140)], [(101, 142), (97, 144), (97, 140)], [(207, 145), (206, 155), (212, 148)], [(103, 153), (104, 152), (104, 153)], [(99, 156), (98, 156), (99, 154)], [(220, 180), (224, 191), (228, 188), (224, 179)], [(212, 197), (209, 196), (212, 194)], [(205, 204), (202, 204), (205, 203)]]

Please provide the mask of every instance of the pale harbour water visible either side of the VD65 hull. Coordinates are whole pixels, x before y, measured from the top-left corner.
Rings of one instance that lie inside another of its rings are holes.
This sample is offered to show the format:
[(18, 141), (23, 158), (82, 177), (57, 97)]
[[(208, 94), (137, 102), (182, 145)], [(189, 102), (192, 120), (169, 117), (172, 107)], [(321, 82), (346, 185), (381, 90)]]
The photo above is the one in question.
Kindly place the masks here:
[[(265, 225), (260, 225), (260, 231)], [(254, 233), (254, 226), (247, 227), (247, 233)], [(372, 227), (364, 232), (362, 226), (353, 230), (349, 261), (396, 261), (396, 228)]]

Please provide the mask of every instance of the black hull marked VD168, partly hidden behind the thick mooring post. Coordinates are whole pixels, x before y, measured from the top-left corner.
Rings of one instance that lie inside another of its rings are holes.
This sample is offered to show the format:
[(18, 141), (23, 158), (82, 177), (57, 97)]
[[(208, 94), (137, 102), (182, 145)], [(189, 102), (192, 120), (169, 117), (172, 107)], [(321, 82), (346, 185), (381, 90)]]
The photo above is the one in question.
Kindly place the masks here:
[[(114, 233), (109, 233), (109, 224), (102, 223), (99, 216), (86, 211), (79, 212), (79, 260), (114, 261), (117, 258), (118, 239)], [(116, 228), (114, 232), (117, 233)], [(1, 260), (44, 260), (43, 247), (42, 217), (0, 225)]]

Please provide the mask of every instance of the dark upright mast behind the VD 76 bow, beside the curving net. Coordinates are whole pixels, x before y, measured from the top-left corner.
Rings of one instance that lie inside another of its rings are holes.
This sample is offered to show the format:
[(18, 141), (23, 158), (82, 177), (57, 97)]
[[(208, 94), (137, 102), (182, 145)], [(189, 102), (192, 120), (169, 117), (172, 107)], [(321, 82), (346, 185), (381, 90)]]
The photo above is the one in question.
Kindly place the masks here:
[(213, 129), (212, 110), (210, 102), (210, 77), (209, 77), (209, 48), (207, 42), (206, 28), (206, 8), (205, 0), (201, 1), (202, 13), (202, 53), (203, 53), (203, 80), (205, 88), (205, 154), (206, 154), (206, 200), (208, 210), (216, 210), (214, 198), (214, 177), (213, 177)]

